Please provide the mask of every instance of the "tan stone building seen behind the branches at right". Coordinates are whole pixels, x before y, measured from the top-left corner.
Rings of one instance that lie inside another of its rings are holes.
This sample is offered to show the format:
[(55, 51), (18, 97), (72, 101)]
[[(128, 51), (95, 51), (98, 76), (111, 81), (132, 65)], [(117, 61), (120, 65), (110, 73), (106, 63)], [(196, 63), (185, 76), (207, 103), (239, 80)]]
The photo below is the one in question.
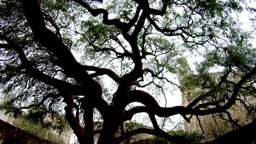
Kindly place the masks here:
[[(186, 62), (187, 61), (184, 60), (184, 63), (181, 64), (181, 67), (179, 68), (179, 82), (183, 87), (181, 95), (183, 106), (189, 105), (191, 101), (199, 97), (199, 95), (206, 95), (206, 93), (210, 91), (211, 86), (216, 86), (220, 78), (223, 76), (222, 73), (193, 74)], [(233, 73), (227, 77), (227, 80), (236, 83), (241, 79), (241, 76), (241, 72), (233, 71)], [(226, 84), (223, 85), (225, 87)], [(248, 86), (251, 85), (251, 83), (245, 83), (245, 85)], [(229, 98), (231, 94), (232, 92), (217, 89), (212, 93), (213, 97), (207, 97), (209, 96), (209, 94), (207, 94), (202, 101), (211, 101), (211, 98), (221, 101), (220, 99), (223, 99), (224, 97)], [(247, 106), (256, 105), (256, 99), (251, 97), (248, 93), (241, 94), (240, 99), (245, 101)], [(221, 103), (224, 104), (225, 101), (223, 100), (223, 102), (220, 102), (220, 105)], [(237, 127), (237, 125), (233, 125), (227, 121), (229, 117), (240, 125), (245, 125), (251, 122), (251, 119), (248, 117), (249, 115), (246, 107), (243, 106), (245, 104), (236, 100), (236, 104), (232, 106), (227, 113), (215, 113), (214, 115), (199, 116), (198, 118), (193, 116), (190, 119), (190, 123), (184, 121), (184, 130), (190, 132), (196, 131), (199, 134), (204, 132), (205, 136), (208, 136), (208, 139), (217, 138)], [(208, 106), (208, 108), (211, 108), (211, 106)], [(228, 113), (230, 113), (230, 115)]]

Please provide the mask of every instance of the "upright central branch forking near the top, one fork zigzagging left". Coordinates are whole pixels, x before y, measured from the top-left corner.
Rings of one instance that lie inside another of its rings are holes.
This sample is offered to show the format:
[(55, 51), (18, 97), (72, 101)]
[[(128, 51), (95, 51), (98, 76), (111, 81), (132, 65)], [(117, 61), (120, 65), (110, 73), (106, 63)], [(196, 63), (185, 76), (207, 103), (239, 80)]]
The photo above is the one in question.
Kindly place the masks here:
[(112, 19), (109, 20), (108, 19), (108, 11), (105, 9), (92, 9), (90, 7), (90, 5), (82, 0), (73, 0), (74, 2), (79, 3), (80, 5), (82, 5), (84, 8), (86, 8), (93, 16), (97, 16), (99, 14), (103, 14), (103, 23), (105, 23), (106, 25), (114, 25), (117, 28), (121, 29), (124, 38), (129, 42), (129, 44), (131, 45), (131, 49), (132, 49), (132, 54), (133, 54), (133, 61), (135, 63), (135, 69), (133, 69), (129, 74), (127, 74), (126, 76), (123, 76), (121, 79), (121, 83), (124, 84), (121, 86), (120, 89), (122, 89), (121, 91), (123, 91), (124, 89), (126, 89), (127, 87), (130, 86), (130, 84), (137, 80), (139, 77), (142, 76), (142, 62), (141, 62), (141, 58), (140, 58), (140, 52), (139, 52), (139, 48), (137, 45), (137, 35), (138, 33), (141, 31), (143, 25), (144, 25), (144, 21), (146, 20), (146, 12), (142, 12), (143, 14), (141, 14), (141, 16), (139, 17), (139, 20), (137, 22), (137, 25), (135, 27), (135, 30), (133, 31), (133, 36), (131, 37), (131, 35), (129, 35), (128, 29), (130, 28), (128, 25), (133, 25), (134, 22), (136, 22), (136, 19), (139, 16), (139, 11), (141, 10), (140, 7), (137, 8), (136, 10), (136, 14), (133, 17), (133, 19), (130, 21), (129, 24), (125, 23), (125, 22), (121, 22), (119, 19)]

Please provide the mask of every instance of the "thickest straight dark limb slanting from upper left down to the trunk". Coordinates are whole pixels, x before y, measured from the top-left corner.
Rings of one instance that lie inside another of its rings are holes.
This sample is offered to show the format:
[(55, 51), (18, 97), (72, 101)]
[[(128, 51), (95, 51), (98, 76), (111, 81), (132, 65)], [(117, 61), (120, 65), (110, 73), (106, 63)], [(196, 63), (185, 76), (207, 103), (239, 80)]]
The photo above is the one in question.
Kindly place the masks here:
[(21, 0), (21, 4), (26, 19), (31, 26), (34, 38), (41, 45), (54, 53), (59, 59), (59, 64), (62, 69), (65, 70), (65, 73), (88, 87), (85, 88), (86, 91), (94, 93), (94, 95), (97, 95), (98, 97), (101, 96), (101, 86), (81, 67), (72, 53), (68, 50), (68, 47), (63, 44), (62, 40), (54, 32), (46, 28), (38, 1)]

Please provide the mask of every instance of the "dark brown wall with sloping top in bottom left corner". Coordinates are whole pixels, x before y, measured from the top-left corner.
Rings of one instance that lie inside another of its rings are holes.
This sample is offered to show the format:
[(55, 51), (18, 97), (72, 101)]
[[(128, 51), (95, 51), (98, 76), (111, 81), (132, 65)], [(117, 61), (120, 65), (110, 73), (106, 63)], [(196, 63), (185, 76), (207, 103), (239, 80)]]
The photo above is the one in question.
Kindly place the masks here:
[(37, 137), (36, 135), (27, 133), (26, 131), (20, 128), (16, 128), (13, 125), (0, 119), (0, 144), (10, 142), (17, 144), (56, 144), (54, 142)]

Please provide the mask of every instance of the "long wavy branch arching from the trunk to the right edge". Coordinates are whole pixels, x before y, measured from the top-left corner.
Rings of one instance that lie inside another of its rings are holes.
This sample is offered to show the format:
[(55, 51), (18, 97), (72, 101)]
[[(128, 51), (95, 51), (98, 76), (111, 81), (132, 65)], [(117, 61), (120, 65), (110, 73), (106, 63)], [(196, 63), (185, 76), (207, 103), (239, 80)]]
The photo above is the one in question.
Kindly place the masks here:
[[(122, 99), (119, 99), (117, 103), (120, 105), (120, 109), (124, 109), (124, 107), (132, 102), (139, 102), (144, 104), (145, 106), (135, 107), (130, 111), (125, 112), (125, 118), (131, 118), (135, 113), (138, 112), (152, 112), (159, 117), (169, 117), (172, 115), (180, 114), (184, 115), (196, 115), (196, 116), (205, 116), (210, 115), (212, 113), (220, 113), (225, 112), (225, 110), (229, 109), (234, 103), (232, 103), (232, 98), (236, 98), (236, 95), (239, 92), (240, 87), (245, 83), (248, 79), (250, 79), (256, 73), (256, 68), (250, 71), (247, 75), (245, 75), (240, 82), (238, 82), (237, 86), (235, 87), (236, 91), (231, 96), (231, 100), (229, 103), (214, 107), (211, 109), (200, 110), (200, 109), (192, 109), (191, 107), (184, 107), (184, 106), (174, 106), (174, 107), (160, 107), (156, 100), (147, 92), (144, 91), (130, 91), (125, 94)], [(235, 100), (234, 100), (235, 101)]]

